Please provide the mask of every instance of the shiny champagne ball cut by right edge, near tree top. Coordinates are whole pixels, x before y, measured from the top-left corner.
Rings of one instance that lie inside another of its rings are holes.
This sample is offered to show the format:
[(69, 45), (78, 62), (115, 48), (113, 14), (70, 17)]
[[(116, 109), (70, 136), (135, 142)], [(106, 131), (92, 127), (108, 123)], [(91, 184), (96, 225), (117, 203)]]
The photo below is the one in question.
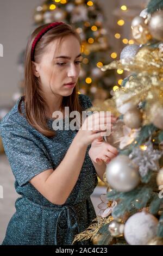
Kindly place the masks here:
[(156, 11), (149, 21), (149, 31), (153, 38), (163, 40), (163, 10)]

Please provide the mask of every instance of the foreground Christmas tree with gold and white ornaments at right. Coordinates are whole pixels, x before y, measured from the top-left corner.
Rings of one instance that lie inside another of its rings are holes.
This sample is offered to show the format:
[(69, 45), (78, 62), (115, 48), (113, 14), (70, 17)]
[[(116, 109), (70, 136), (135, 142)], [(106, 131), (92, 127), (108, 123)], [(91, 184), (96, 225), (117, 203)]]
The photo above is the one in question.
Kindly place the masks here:
[(112, 99), (91, 108), (118, 117), (104, 139), (119, 154), (106, 164), (99, 215), (74, 242), (163, 245), (163, 1), (151, 0), (131, 29), (137, 44), (102, 68), (130, 75)]

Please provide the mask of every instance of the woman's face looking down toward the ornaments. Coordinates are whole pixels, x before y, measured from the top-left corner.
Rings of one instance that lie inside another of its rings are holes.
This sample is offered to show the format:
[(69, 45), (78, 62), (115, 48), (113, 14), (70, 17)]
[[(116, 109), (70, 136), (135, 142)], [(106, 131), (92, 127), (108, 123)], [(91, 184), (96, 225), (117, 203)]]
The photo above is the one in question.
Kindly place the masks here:
[[(79, 41), (75, 36), (64, 36), (57, 48), (58, 40), (51, 42), (47, 46), (47, 51), (43, 53), (41, 62), (35, 63), (34, 74), (39, 78), (43, 92), (68, 96), (76, 86), (83, 57), (80, 54)], [(56, 49), (58, 50), (55, 51)], [(73, 84), (66, 85), (70, 83)]]

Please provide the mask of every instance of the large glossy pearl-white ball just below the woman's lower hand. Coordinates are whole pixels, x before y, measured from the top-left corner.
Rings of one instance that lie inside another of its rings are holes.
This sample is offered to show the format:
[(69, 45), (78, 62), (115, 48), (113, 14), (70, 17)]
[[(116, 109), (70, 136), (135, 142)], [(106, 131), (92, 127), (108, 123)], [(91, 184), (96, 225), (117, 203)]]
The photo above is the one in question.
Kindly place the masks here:
[(139, 167), (128, 156), (118, 155), (106, 165), (106, 180), (117, 191), (131, 191), (139, 184)]

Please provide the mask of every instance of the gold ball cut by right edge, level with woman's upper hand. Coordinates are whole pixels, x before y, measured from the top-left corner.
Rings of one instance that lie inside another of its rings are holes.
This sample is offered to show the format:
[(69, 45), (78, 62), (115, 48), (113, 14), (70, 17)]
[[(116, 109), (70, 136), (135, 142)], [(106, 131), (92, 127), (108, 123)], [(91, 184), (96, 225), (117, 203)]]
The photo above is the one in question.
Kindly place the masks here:
[(151, 115), (150, 116), (151, 122), (156, 127), (162, 130), (163, 129), (163, 106), (161, 106), (159, 102), (156, 102), (151, 106), (150, 115)]

